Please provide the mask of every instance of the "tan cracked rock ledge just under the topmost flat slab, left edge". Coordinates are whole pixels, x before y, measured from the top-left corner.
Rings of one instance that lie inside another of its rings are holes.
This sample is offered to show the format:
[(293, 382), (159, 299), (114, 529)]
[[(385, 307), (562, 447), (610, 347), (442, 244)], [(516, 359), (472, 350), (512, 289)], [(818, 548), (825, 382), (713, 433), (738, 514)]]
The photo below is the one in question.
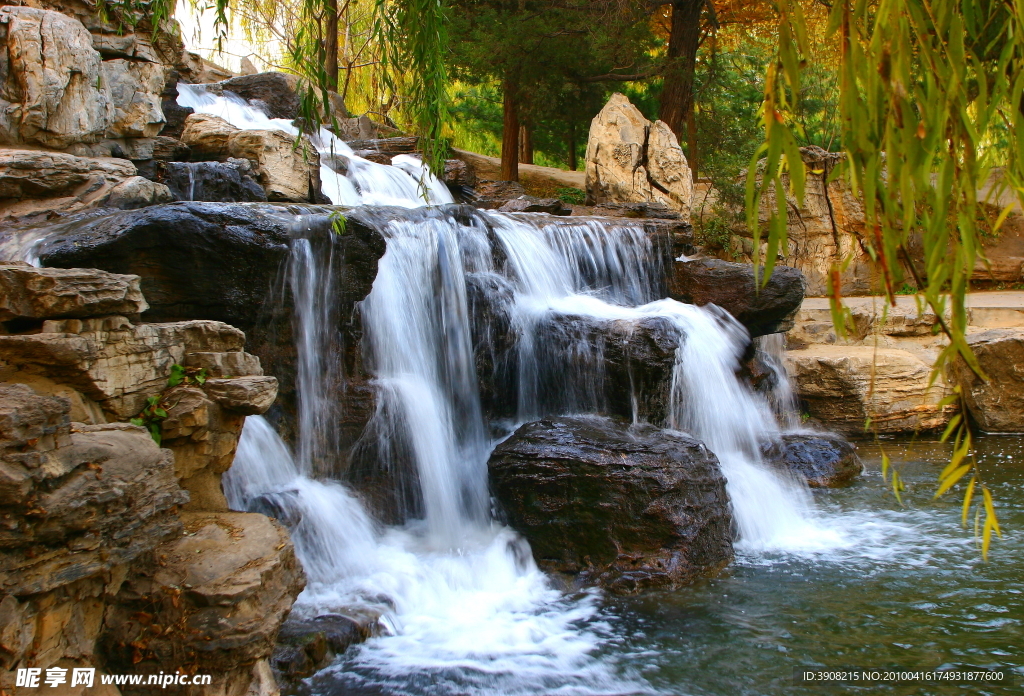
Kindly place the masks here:
[(68, 384), (114, 420), (134, 417), (189, 352), (239, 351), (245, 336), (217, 321), (132, 324), (123, 316), (51, 319), (0, 336), (0, 359)]

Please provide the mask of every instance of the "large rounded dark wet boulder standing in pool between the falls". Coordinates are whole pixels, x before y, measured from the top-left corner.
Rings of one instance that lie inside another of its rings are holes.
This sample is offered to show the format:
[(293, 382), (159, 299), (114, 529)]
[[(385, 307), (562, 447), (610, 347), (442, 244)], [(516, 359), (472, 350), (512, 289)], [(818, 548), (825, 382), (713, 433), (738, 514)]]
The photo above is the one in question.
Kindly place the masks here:
[(498, 445), (487, 468), (509, 523), (549, 571), (633, 593), (691, 582), (732, 558), (718, 460), (682, 434), (538, 421)]

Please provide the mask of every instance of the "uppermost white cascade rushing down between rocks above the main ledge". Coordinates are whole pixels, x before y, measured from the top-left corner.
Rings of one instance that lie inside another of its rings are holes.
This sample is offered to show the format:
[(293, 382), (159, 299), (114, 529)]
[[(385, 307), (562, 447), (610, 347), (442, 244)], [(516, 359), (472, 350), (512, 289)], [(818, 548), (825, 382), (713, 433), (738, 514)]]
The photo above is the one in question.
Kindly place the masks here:
[[(271, 119), (231, 92), (212, 94), (203, 85), (178, 83), (181, 106), (197, 114), (217, 116), (242, 130), (278, 130), (299, 137), (299, 129), (287, 119)], [(321, 156), (321, 186), (324, 194), (338, 206), (399, 206), (453, 203), (443, 183), (417, 158), (397, 155), (394, 166), (370, 162), (327, 128), (309, 135)]]

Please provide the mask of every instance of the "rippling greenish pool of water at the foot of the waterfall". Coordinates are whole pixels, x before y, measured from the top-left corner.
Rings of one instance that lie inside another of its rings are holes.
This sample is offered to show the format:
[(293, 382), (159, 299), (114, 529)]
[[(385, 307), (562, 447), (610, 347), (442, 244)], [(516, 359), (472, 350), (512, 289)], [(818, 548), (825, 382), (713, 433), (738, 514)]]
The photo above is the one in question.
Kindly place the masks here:
[[(880, 447), (900, 467), (903, 506), (882, 481)], [(411, 668), (403, 652), (422, 646), (377, 639), (308, 682), (309, 693), (1024, 693), (1024, 438), (978, 441), (1004, 529), (987, 563), (961, 527), (961, 494), (931, 499), (948, 445), (890, 440), (860, 452), (858, 482), (815, 491), (823, 523), (842, 539), (827, 550), (739, 553), (720, 576), (673, 592), (555, 597), (548, 611), (565, 621), (564, 636), (547, 656), (536, 648), (464, 660), (418, 654)], [(800, 684), (800, 667), (1002, 668), (1015, 682)]]

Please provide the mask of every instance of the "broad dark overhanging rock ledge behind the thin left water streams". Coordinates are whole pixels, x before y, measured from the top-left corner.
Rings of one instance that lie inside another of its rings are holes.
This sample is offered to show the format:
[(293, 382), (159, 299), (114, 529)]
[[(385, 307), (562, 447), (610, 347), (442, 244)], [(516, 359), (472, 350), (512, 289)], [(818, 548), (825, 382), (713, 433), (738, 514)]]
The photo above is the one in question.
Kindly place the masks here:
[[(424, 209), (413, 215), (450, 215), (452, 210)], [(355, 303), (370, 293), (378, 259), (386, 250), (378, 231), (380, 216), (394, 214), (388, 209), (351, 211), (343, 235), (331, 231), (327, 214), (306, 218), (305, 233), (314, 246), (334, 245), (331, 273), (342, 341), (332, 359), (346, 376), (335, 385), (344, 401), (338, 415), (344, 432), (338, 444), (342, 455), (375, 406), (358, 357), (358, 323), (340, 317), (352, 316)], [(291, 212), (270, 206), (177, 203), (61, 226), (40, 246), (39, 255), (48, 266), (135, 269), (151, 304), (148, 320), (201, 316), (242, 328), (248, 350), (281, 381), (281, 410), (274, 406), (274, 418), (281, 419), (287, 434), (288, 415), (294, 414), (296, 353), (291, 294), (281, 272), (290, 255), (294, 222)], [(280, 304), (268, 303), (267, 297), (281, 298)]]

